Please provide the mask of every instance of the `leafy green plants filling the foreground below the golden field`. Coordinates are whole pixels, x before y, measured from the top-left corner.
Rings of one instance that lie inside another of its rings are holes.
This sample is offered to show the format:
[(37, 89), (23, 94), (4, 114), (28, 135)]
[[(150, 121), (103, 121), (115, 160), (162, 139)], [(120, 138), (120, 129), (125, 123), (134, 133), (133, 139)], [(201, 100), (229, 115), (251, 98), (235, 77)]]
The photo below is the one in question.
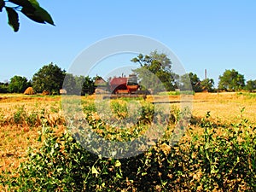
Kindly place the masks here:
[[(90, 113), (90, 125), (98, 134), (104, 132), (102, 137), (107, 135), (108, 127), (94, 113), (94, 104), (83, 105)], [(127, 113), (125, 102), (114, 101), (112, 108), (117, 118)], [(255, 191), (256, 127), (243, 118), (243, 111), (241, 121), (230, 125), (214, 124), (207, 112), (195, 122), (201, 131), (191, 126), (177, 145), (170, 145), (166, 132), (143, 154), (119, 160), (91, 154), (68, 131), (56, 134), (54, 125), (44, 120), (45, 113), (38, 138), (42, 147), (31, 148), (29, 160), (9, 180), (0, 177), (0, 182), (10, 191)], [(143, 113), (143, 119), (148, 118), (152, 106), (145, 106)], [(172, 108), (174, 117), (179, 113)], [(15, 115), (19, 123), (26, 109), (17, 108)]]

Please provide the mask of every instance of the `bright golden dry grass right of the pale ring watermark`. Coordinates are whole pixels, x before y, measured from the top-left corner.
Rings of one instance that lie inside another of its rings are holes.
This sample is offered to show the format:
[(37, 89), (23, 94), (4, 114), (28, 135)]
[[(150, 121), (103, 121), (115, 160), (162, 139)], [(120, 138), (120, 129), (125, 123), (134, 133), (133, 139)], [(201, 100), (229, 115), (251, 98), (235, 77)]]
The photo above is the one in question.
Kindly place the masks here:
[(223, 123), (232, 123), (241, 119), (242, 115), (250, 122), (256, 122), (256, 97), (249, 97), (237, 93), (197, 93), (193, 100), (193, 115), (203, 117), (207, 111), (213, 119)]

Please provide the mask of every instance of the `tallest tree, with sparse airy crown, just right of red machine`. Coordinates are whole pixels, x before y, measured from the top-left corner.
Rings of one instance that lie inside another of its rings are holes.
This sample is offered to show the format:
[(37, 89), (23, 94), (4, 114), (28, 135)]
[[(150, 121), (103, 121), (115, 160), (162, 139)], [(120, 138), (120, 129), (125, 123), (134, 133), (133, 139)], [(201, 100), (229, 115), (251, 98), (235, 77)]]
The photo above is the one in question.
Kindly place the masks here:
[[(166, 54), (159, 54), (154, 50), (149, 55), (139, 54), (131, 61), (140, 64), (140, 67), (133, 72), (137, 73), (140, 83), (146, 89), (155, 92), (175, 89), (174, 73), (171, 70), (172, 61)], [(163, 84), (163, 87), (160, 87), (160, 84)]]

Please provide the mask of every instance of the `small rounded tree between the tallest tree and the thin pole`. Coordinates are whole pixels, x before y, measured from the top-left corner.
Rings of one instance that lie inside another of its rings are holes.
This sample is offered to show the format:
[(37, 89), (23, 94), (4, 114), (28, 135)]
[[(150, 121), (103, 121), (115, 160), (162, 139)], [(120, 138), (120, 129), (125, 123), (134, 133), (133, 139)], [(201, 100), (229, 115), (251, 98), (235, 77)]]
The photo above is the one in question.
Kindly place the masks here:
[(181, 76), (181, 89), (182, 90), (194, 90), (195, 92), (201, 91), (201, 80), (195, 73), (186, 73)]

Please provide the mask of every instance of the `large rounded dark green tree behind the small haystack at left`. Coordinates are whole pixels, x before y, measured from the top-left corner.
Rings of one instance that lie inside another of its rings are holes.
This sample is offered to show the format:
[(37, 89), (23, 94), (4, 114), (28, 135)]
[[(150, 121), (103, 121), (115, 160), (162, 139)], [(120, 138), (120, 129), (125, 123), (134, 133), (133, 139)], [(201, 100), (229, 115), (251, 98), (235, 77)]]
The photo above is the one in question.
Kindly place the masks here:
[(59, 93), (63, 80), (65, 78), (65, 70), (49, 63), (38, 70), (32, 77), (32, 87), (36, 92), (42, 93), (48, 90), (50, 94)]

